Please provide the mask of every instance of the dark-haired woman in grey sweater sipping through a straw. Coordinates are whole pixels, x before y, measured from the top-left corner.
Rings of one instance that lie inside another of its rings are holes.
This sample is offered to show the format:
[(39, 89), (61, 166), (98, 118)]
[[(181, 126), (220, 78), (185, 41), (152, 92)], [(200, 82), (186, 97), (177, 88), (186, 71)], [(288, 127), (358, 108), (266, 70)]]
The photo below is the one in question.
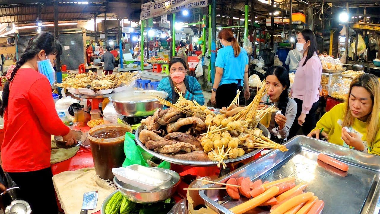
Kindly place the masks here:
[[(271, 139), (275, 142), (286, 141), (297, 113), (296, 102), (288, 96), (290, 85), (288, 71), (282, 66), (269, 67), (265, 73), (265, 81), (269, 90), (268, 94), (263, 97), (263, 101), (273, 102), (274, 106), (281, 110), (281, 114), (272, 113), (271, 115), (268, 128)], [(263, 109), (267, 105), (261, 104), (258, 107)]]

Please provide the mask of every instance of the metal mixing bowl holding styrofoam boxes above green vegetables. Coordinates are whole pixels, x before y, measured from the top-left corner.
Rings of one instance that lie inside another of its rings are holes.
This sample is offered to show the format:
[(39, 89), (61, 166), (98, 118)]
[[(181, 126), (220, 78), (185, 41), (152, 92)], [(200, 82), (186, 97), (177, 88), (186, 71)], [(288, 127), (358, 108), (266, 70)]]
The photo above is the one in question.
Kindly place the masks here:
[(120, 192), (128, 200), (139, 203), (139, 204), (150, 204), (156, 203), (159, 201), (166, 200), (170, 198), (177, 189), (177, 186), (180, 182), (180, 176), (177, 172), (174, 172), (170, 169), (154, 168), (161, 170), (167, 174), (171, 175), (171, 180), (163, 184), (159, 190), (136, 190), (136, 187), (133, 187), (129, 184), (125, 184), (120, 180), (117, 180), (116, 176), (114, 177), (114, 184), (119, 187)]

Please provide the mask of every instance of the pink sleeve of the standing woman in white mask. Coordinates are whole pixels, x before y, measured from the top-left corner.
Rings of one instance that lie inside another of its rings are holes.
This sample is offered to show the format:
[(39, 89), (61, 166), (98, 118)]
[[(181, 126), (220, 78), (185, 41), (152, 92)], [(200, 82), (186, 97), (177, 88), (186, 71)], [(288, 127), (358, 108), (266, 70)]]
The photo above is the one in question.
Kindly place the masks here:
[(305, 96), (302, 102), (302, 113), (308, 114), (314, 103), (314, 94), (321, 84), (321, 61), (319, 58), (311, 57), (305, 65), (308, 77), (305, 80)]

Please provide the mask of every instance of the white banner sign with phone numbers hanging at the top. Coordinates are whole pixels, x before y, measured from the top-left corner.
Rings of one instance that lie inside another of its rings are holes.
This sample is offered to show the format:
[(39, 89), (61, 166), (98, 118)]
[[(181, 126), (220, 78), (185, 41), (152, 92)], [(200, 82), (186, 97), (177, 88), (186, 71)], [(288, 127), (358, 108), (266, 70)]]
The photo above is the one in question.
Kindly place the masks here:
[(141, 5), (140, 19), (154, 18), (186, 9), (207, 6), (207, 0), (156, 0)]

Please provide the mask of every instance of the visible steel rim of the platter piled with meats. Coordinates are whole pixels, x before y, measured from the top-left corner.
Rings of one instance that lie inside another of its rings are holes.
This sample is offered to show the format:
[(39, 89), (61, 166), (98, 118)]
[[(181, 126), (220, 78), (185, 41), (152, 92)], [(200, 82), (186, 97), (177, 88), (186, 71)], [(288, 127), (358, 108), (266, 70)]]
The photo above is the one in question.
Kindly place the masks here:
[[(257, 128), (259, 128), (259, 129), (261, 129), (263, 131), (263, 135), (264, 136), (270, 137), (271, 134), (269, 133), (268, 129), (265, 128), (265, 126), (263, 126), (263, 125), (261, 125), (259, 123), (258, 126), (257, 126)], [(189, 161), (189, 160), (179, 160), (179, 159), (176, 159), (176, 158), (168, 157), (168, 156), (165, 156), (163, 154), (154, 152), (153, 150), (149, 150), (139, 140), (139, 134), (140, 134), (140, 131), (142, 129), (144, 129), (144, 126), (139, 126), (139, 128), (136, 130), (135, 140), (136, 140), (137, 144), (142, 149), (144, 149), (146, 152), (150, 153), (151, 155), (153, 155), (153, 156), (155, 156), (157, 158), (160, 158), (161, 160), (168, 161), (169, 163), (174, 163), (174, 164), (178, 164), (178, 165), (186, 165), (186, 166), (216, 166), (218, 164), (218, 161)], [(252, 151), (250, 153), (247, 153), (247, 154), (245, 154), (245, 155), (243, 155), (241, 157), (237, 157), (235, 159), (228, 159), (224, 163), (234, 163), (234, 162), (237, 162), (237, 161), (245, 160), (247, 158), (253, 157), (257, 153), (259, 153), (261, 150), (262, 149), (256, 149), (256, 150), (254, 150), (254, 151)]]

